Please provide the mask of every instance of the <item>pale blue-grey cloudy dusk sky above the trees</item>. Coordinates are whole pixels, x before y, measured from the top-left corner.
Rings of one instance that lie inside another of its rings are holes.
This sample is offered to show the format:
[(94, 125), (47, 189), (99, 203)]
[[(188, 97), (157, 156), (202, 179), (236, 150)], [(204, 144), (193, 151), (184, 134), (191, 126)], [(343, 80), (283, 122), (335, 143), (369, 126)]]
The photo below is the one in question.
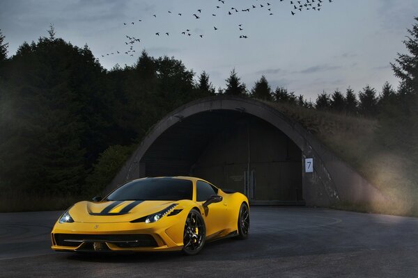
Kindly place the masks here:
[[(389, 81), (396, 88), (390, 63), (406, 53), (403, 40), (418, 17), (418, 1), (323, 0), (321, 6), (300, 11), (288, 0), (2, 0), (0, 28), (9, 56), (24, 41), (47, 36), (54, 24), (56, 37), (88, 44), (108, 70), (134, 65), (145, 49), (182, 60), (196, 75), (205, 70), (216, 88), (225, 87), (233, 69), (249, 89), (263, 74), (272, 89), (284, 87), (312, 101), (323, 90), (348, 86), (380, 92)], [(126, 36), (140, 42), (125, 44)], [(125, 54), (131, 45), (135, 52)]]

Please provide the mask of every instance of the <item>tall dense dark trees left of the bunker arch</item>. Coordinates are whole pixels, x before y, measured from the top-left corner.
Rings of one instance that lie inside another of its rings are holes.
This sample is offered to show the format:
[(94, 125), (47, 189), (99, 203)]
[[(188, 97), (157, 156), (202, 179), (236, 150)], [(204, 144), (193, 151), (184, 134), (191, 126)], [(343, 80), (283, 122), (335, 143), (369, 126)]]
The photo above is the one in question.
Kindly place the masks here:
[(125, 159), (129, 152), (121, 146), (136, 145), (169, 111), (211, 93), (201, 85), (206, 74), (196, 83), (175, 58), (143, 52), (135, 65), (107, 71), (86, 45), (55, 38), (53, 29), (48, 38), (24, 42), (11, 58), (3, 40), (2, 190), (81, 194), (88, 183), (104, 182), (93, 171), (100, 155)]

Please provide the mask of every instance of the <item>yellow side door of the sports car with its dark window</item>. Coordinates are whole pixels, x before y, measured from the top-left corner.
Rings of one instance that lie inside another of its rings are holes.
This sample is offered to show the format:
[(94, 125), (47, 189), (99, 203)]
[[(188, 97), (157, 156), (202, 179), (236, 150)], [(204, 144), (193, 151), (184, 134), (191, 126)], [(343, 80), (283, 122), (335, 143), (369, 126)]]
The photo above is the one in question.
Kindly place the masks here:
[[(217, 188), (205, 181), (196, 182), (196, 202), (203, 204), (211, 195), (217, 195)], [(224, 200), (219, 203), (212, 203), (205, 208), (206, 236), (216, 236), (219, 231), (226, 229), (228, 221), (226, 218), (227, 205)]]

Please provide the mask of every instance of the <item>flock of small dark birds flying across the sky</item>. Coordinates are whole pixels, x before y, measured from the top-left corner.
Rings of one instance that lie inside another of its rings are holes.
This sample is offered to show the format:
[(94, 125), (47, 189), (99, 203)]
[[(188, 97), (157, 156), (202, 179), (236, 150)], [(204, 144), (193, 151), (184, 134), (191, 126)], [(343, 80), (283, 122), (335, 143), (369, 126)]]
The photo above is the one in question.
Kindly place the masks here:
[[(263, 9), (266, 11), (267, 15), (272, 16), (274, 15), (273, 13), (273, 6), (274, 3), (272, 1), (274, 0), (263, 0), (263, 1), (258, 1), (256, 0), (256, 3), (252, 3), (249, 6), (246, 7), (241, 7), (241, 8), (235, 8), (235, 7), (231, 7), (228, 6), (226, 4), (228, 0), (217, 0), (217, 4), (214, 6), (214, 9), (208, 13), (205, 13), (205, 11), (201, 8), (197, 8), (195, 13), (192, 13), (191, 15), (185, 15), (185, 13), (182, 12), (173, 12), (171, 10), (167, 10), (167, 14), (168, 15), (176, 15), (177, 17), (185, 17), (185, 16), (190, 16), (193, 17), (196, 20), (201, 19), (202, 16), (211, 16), (211, 17), (217, 17), (217, 16), (221, 16), (221, 15), (226, 15), (226, 16), (233, 16), (236, 13), (251, 13), (252, 10), (255, 9)], [(279, 1), (283, 2), (284, 0), (275, 0), (276, 2)], [(296, 13), (300, 13), (304, 10), (311, 10), (311, 11), (320, 11), (321, 8), (323, 7), (323, 2), (326, 3), (332, 3), (334, 2), (334, 0), (301, 0), (301, 1), (289, 1), (290, 5), (291, 5), (291, 15), (296, 15)], [(157, 19), (157, 14), (153, 14), (150, 15), (151, 17), (153, 17), (154, 19)], [(158, 15), (158, 17), (160, 17), (161, 15)], [(167, 15), (166, 15), (167, 16)], [(144, 24), (142, 19), (138, 19), (137, 22), (123, 22), (123, 26), (134, 26), (135, 24)], [(244, 28), (242, 26), (242, 24), (238, 24), (237, 26), (237, 30), (240, 31), (238, 38), (240, 39), (247, 39), (249, 38), (249, 35), (244, 33)], [(181, 30), (177, 33), (177, 35), (183, 35), (183, 36), (187, 36), (187, 37), (192, 37), (192, 36), (196, 36), (197, 38), (203, 38), (203, 36), (205, 35), (204, 33), (193, 33), (191, 31), (191, 28), (187, 28), (185, 30)], [(219, 27), (218, 26), (213, 26), (213, 31), (218, 31)], [(160, 36), (171, 36), (173, 34), (171, 34), (170, 32), (161, 32), (161, 31), (157, 31), (155, 32), (155, 36), (160, 37)], [(116, 54), (125, 54), (125, 55), (129, 55), (129, 56), (134, 56), (135, 52), (137, 52), (134, 47), (136, 44), (139, 44), (141, 42), (140, 38), (135, 38), (134, 36), (130, 36), (130, 35), (125, 35), (125, 38), (127, 40), (125, 40), (125, 47), (128, 47), (125, 50), (121, 50), (121, 51), (116, 51), (116, 52), (110, 52), (107, 54), (102, 54), (102, 57), (105, 56), (111, 56), (111, 55), (116, 55)]]

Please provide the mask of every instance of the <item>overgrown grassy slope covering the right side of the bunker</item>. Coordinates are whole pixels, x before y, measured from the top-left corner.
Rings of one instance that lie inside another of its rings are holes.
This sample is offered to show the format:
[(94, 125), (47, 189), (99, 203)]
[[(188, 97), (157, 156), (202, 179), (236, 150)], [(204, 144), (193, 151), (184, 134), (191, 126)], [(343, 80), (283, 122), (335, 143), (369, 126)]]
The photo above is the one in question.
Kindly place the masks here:
[(418, 164), (380, 144), (376, 138), (377, 120), (290, 104), (268, 104), (302, 124), (391, 200), (387, 204), (335, 204), (334, 208), (418, 216)]

